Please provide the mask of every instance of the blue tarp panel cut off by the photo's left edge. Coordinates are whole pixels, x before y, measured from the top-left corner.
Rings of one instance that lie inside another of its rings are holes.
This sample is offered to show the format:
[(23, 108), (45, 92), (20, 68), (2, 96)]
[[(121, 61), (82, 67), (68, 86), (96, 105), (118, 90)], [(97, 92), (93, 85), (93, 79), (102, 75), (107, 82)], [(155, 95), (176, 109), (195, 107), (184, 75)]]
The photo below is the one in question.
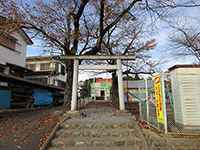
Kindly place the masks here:
[(10, 108), (11, 92), (0, 89), (0, 108)]

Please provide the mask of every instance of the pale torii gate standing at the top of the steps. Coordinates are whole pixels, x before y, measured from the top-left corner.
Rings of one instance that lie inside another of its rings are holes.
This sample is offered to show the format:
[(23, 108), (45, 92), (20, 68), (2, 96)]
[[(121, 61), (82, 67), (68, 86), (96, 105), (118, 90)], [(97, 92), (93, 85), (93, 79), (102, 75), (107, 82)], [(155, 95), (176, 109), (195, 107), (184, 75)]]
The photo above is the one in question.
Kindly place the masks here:
[[(79, 70), (116, 70), (118, 77), (118, 93), (119, 93), (119, 108), (121, 111), (125, 110), (124, 104), (124, 89), (122, 78), (122, 60), (135, 60), (135, 56), (131, 55), (92, 55), (92, 56), (61, 56), (61, 60), (74, 60), (73, 68), (73, 86), (72, 86), (72, 100), (71, 111), (77, 109), (77, 87), (78, 87), (78, 73)], [(79, 60), (117, 60), (117, 65), (79, 65)]]

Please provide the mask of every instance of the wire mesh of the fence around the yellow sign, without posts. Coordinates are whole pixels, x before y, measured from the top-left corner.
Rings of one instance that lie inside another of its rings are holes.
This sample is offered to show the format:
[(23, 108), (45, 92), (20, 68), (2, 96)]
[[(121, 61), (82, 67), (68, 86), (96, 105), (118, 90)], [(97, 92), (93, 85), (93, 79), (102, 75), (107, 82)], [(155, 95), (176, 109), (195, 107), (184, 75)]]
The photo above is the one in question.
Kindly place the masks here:
[[(174, 133), (174, 134), (200, 134), (199, 128), (194, 127), (185, 127), (178, 123), (175, 118), (175, 113), (182, 113), (177, 112), (177, 110), (174, 108), (174, 99), (173, 99), (173, 93), (171, 89), (171, 81), (169, 79), (165, 79), (164, 81), (164, 92), (162, 93), (162, 96), (164, 94), (165, 97), (163, 97), (163, 103), (165, 102), (166, 112), (163, 112), (164, 117), (166, 118), (166, 124), (167, 124), (167, 132), (168, 133)], [(148, 122), (151, 126), (158, 128), (159, 130), (165, 132), (165, 122), (159, 123), (158, 117), (157, 117), (157, 108), (156, 108), (156, 99), (155, 99), (155, 91), (153, 84), (151, 87), (147, 89), (148, 91), (148, 98), (140, 99), (140, 119), (145, 120)], [(148, 109), (148, 111), (147, 111)], [(176, 111), (176, 112), (175, 112)], [(149, 112), (147, 114), (147, 112)]]

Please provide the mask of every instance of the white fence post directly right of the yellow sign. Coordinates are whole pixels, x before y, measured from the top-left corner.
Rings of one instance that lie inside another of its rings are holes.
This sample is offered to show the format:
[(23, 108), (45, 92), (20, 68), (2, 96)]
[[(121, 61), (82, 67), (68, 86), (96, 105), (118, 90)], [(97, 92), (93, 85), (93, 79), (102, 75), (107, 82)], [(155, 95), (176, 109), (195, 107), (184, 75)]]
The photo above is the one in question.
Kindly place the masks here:
[(165, 95), (165, 74), (161, 73), (161, 89), (162, 89), (162, 99), (163, 99), (163, 114), (164, 114), (164, 129), (165, 134), (167, 134), (167, 110), (166, 110), (166, 95)]

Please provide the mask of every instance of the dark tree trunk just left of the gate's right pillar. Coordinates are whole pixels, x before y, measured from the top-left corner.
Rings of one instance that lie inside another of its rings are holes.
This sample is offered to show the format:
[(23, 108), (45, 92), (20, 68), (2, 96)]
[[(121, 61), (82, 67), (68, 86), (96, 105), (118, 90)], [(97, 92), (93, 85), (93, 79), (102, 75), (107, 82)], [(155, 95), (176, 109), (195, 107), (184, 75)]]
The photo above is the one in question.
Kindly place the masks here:
[(112, 73), (112, 89), (111, 89), (111, 99), (113, 104), (119, 108), (119, 94), (118, 94), (118, 80), (116, 72)]

